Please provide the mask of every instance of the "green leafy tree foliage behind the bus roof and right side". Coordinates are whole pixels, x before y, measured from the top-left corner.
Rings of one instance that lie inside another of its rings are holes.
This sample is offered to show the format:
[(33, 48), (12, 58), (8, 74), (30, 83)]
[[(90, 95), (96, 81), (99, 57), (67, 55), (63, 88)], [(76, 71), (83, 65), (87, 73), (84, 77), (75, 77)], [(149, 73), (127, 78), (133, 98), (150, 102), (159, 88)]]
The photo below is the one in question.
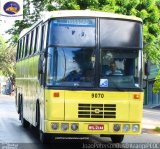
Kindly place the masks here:
[(12, 42), (16, 43), (22, 29), (39, 19), (41, 11), (62, 9), (100, 10), (142, 18), (145, 59), (160, 64), (160, 0), (24, 0), (24, 20), (16, 21), (8, 31)]

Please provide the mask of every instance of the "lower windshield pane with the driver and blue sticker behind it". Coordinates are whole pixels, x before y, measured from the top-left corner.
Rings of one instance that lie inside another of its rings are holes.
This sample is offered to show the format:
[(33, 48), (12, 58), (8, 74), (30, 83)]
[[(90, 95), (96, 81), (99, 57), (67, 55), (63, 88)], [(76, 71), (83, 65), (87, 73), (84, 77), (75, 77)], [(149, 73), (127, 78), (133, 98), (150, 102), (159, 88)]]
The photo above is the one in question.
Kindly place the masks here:
[(139, 88), (141, 51), (101, 49), (100, 87)]

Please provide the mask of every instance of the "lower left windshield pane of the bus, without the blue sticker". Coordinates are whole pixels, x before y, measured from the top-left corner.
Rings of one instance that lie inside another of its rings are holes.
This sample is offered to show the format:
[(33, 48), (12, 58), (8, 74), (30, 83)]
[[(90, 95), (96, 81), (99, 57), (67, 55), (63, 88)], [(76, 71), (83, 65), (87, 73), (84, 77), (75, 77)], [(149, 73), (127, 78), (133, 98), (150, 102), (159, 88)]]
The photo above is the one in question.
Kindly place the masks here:
[(94, 48), (55, 47), (48, 49), (48, 86), (92, 87), (94, 73)]

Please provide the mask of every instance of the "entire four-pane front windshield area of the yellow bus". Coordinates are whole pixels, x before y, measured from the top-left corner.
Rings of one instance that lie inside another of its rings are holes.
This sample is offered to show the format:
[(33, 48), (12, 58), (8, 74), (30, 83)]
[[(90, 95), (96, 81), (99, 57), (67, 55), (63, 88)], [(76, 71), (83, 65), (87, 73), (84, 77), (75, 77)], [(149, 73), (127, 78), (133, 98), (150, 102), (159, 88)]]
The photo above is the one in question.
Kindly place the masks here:
[(97, 21), (95, 18), (51, 20), (47, 86), (141, 88), (141, 23), (101, 18), (98, 30)]

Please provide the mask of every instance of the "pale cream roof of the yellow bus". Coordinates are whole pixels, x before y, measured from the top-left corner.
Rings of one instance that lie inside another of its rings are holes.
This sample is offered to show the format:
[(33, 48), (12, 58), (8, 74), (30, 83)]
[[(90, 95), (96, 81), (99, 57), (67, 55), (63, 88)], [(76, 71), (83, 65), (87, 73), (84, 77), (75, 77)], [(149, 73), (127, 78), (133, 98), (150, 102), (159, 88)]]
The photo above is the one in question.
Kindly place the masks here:
[(101, 11), (91, 11), (91, 10), (58, 10), (58, 11), (50, 11), (41, 13), (41, 20), (37, 23), (33, 24), (30, 28), (24, 29), (20, 38), (24, 36), (28, 31), (37, 26), (40, 22), (45, 22), (50, 18), (65, 18), (65, 17), (99, 17), (99, 18), (114, 18), (114, 19), (122, 19), (122, 20), (133, 20), (142, 22), (141, 18), (135, 16), (127, 16), (115, 13), (107, 13)]

